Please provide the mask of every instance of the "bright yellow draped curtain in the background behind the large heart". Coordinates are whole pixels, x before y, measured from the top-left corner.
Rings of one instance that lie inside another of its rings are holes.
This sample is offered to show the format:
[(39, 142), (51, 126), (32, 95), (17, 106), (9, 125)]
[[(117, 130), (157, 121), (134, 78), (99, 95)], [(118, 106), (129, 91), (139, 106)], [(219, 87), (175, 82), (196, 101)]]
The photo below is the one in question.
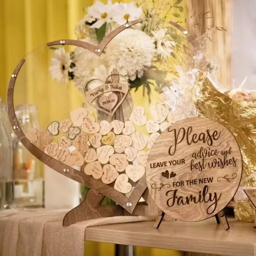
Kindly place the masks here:
[[(84, 16), (84, 7), (93, 2), (93, 0), (0, 0), (0, 98), (3, 101), (6, 101), (9, 79), (17, 63), (28, 52), (46, 42), (62, 38), (76, 39), (75, 24)], [(102, 0), (102, 2), (106, 3), (107, 1)], [(172, 0), (170, 4), (174, 2), (176, 1)], [(185, 3), (183, 3), (184, 5)], [(24, 88), (27, 91), (28, 102), (33, 97), (33, 90), (30, 90), (29, 86), (32, 85), (28, 83), (28, 88)], [(49, 88), (45, 89), (44, 100), (51, 102), (55, 94)], [(75, 87), (71, 90), (73, 89), (76, 90)], [(70, 95), (75, 94), (70, 93)], [(76, 106), (75, 99), (70, 99), (70, 103), (74, 107), (80, 107)], [(59, 106), (60, 111), (65, 111), (61, 107)], [(39, 119), (44, 118), (44, 115), (49, 115), (49, 113), (43, 113)], [(154, 240), (154, 238), (152, 239)], [(146, 254), (148, 256), (178, 256), (181, 255), (181, 252), (135, 247), (135, 255)], [(85, 242), (84, 255), (114, 256), (115, 246)]]

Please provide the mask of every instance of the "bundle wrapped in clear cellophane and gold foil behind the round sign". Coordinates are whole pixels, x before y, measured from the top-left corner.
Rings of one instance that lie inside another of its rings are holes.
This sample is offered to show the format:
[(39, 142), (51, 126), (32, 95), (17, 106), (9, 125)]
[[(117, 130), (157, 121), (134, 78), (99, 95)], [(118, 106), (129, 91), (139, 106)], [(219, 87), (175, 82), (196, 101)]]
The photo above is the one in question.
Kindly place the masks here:
[(214, 33), (219, 30), (212, 28), (193, 41), (189, 40), (192, 51), (187, 63), (176, 67), (179, 79), (163, 90), (168, 96), (166, 105), (174, 109), (177, 121), (200, 115), (220, 122), (233, 133), (243, 157), (243, 176), (234, 197), (234, 212), (237, 220), (251, 222), (254, 207), (243, 189), (256, 187), (256, 91), (240, 86), (226, 92), (223, 89), (226, 85), (217, 83), (218, 65), (206, 54), (206, 45), (208, 40), (214, 40)]

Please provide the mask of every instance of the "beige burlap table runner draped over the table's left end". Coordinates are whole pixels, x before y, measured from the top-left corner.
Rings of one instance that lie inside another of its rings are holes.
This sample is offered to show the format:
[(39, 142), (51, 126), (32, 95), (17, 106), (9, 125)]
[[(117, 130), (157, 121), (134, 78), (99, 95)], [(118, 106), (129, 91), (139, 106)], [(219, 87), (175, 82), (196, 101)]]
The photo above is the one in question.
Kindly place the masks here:
[(0, 255), (83, 256), (86, 227), (156, 219), (153, 216), (118, 216), (63, 227), (62, 220), (67, 212), (67, 209), (0, 212)]

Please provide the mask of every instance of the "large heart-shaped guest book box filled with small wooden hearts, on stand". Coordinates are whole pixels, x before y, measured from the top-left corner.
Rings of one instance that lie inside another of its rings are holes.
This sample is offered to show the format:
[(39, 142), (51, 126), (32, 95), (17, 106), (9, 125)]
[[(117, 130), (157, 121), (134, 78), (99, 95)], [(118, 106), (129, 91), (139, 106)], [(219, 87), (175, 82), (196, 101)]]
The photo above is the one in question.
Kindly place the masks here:
[[(104, 216), (156, 215), (159, 211), (148, 197), (145, 165), (148, 150), (156, 135), (159, 135), (156, 130), (160, 129), (160, 124), (166, 121), (169, 113), (164, 102), (163, 105), (157, 103), (153, 106), (153, 116), (157, 120), (151, 120), (145, 132), (142, 132), (138, 127), (147, 123), (145, 109), (143, 106), (132, 107), (128, 80), (115, 68), (104, 81), (84, 81), (85, 105), (73, 108), (68, 103), (69, 93), (66, 99), (59, 96), (64, 89), (49, 78), (49, 68), (42, 62), (52, 55), (53, 50), (59, 49), (56, 47), (66, 45), (77, 46), (79, 50), (86, 50), (100, 58), (107, 44), (117, 34), (124, 29), (132, 29), (130, 27), (140, 22), (135, 20), (125, 23), (98, 45), (68, 39), (47, 43), (40, 51), (29, 53), (13, 71), (8, 88), (8, 114), (18, 140), (53, 170), (91, 188), (84, 201), (67, 213), (63, 225)], [(47, 68), (44, 70), (44, 67)], [(37, 74), (36, 77), (33, 74)], [(38, 85), (38, 91), (32, 100), (27, 101), (27, 95), (22, 93), (26, 91), (24, 88), (31, 79), (37, 79), (36, 82), (33, 80), (33, 84)], [(43, 81), (52, 83), (51, 88), (55, 92), (53, 100), (59, 106), (68, 107), (68, 112), (62, 113), (61, 107), (50, 108), (47, 93), (43, 88), (42, 91), (39, 89)], [(19, 104), (25, 102), (36, 105), (43, 101), (44, 104), (37, 105), (39, 115), (46, 112), (49, 114), (41, 119), (40, 127), (35, 125), (27, 129), (20, 125), (15, 114), (16, 101)], [(150, 116), (151, 110), (147, 114)], [(155, 133), (153, 137), (149, 136), (154, 134), (152, 131)], [(104, 197), (112, 199), (116, 204), (100, 204)], [(139, 205), (141, 197), (144, 202)]]

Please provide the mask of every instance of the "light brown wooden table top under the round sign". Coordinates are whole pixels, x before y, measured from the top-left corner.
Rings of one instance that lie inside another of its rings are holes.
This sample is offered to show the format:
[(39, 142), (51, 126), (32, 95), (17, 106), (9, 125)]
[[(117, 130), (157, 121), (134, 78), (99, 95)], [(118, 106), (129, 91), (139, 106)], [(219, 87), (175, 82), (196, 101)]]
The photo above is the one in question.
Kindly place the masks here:
[(223, 230), (215, 218), (199, 222), (163, 221), (103, 225), (85, 229), (85, 240), (137, 245), (233, 256), (256, 255), (256, 229), (253, 223), (229, 218), (230, 229)]

